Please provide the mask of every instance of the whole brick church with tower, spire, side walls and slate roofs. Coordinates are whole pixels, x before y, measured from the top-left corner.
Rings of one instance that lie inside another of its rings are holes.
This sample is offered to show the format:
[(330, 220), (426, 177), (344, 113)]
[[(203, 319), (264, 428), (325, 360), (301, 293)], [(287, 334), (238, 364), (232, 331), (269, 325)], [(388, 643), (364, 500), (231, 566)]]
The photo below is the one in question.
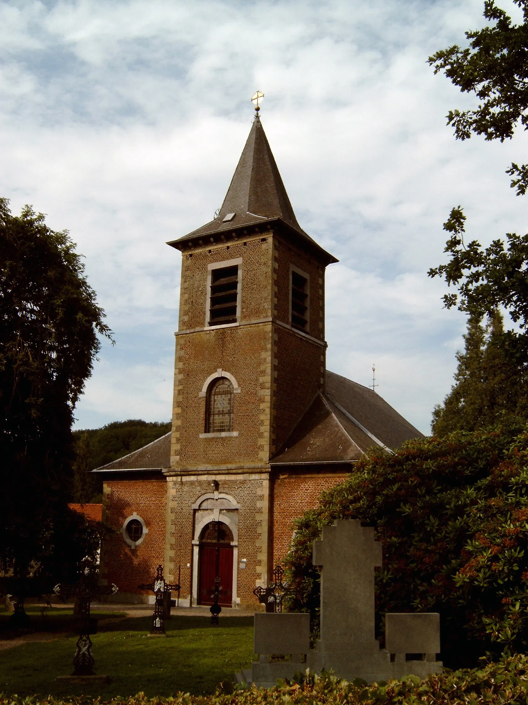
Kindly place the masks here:
[(326, 369), (325, 269), (299, 226), (258, 113), (218, 216), (182, 252), (172, 431), (98, 468), (115, 532), (101, 575), (120, 601), (158, 563), (180, 604), (256, 606), (291, 521), (372, 446), (421, 436), (377, 393)]

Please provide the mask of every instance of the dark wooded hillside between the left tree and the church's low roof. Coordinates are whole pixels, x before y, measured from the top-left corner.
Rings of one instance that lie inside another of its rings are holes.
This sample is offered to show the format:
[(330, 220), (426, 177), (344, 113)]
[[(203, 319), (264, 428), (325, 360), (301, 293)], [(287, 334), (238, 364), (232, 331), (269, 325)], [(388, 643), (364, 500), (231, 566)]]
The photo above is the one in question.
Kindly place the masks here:
[(100, 502), (101, 479), (92, 475), (91, 471), (156, 441), (168, 434), (170, 425), (170, 422), (129, 419), (115, 421), (101, 429), (73, 431), (75, 461), (70, 500), (80, 503)]

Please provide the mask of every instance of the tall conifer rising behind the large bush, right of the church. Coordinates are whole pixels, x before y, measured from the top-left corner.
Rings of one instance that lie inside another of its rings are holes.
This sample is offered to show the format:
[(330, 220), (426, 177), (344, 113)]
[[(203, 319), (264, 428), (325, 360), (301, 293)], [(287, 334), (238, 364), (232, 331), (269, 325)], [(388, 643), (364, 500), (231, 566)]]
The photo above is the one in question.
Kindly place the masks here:
[(489, 317), (485, 328), (478, 317), (470, 317), (464, 339), (465, 351), (456, 355), (455, 385), (433, 412), (435, 436), (474, 431), (494, 424), (498, 415), (526, 417), (528, 412), (522, 374), (503, 346), (501, 313)]

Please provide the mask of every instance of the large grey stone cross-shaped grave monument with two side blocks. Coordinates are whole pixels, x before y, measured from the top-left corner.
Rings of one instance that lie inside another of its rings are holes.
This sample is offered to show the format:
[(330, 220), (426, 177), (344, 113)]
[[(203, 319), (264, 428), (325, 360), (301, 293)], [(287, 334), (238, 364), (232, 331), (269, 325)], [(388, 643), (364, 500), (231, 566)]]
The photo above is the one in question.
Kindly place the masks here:
[[(375, 636), (374, 568), (382, 565), (382, 546), (374, 529), (358, 520), (340, 520), (324, 527), (314, 541), (313, 565), (321, 566), (321, 638), (310, 649), (307, 613), (256, 613), (254, 650), (258, 662), (239, 682), (272, 687), (277, 678), (297, 671), (367, 682), (404, 675), (425, 678), (441, 673), (438, 613), (386, 613), (385, 649)], [(277, 660), (272, 656), (286, 656)]]

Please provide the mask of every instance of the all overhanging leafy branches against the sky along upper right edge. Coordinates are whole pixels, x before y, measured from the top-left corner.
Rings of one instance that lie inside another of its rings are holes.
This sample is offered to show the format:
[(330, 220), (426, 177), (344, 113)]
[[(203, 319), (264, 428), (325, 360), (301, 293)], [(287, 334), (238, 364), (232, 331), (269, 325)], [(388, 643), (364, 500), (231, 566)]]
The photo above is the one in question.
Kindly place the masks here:
[[(494, 0), (484, 2), (484, 18), (489, 25), (466, 32), (469, 46), (457, 44), (429, 56), (434, 72), (444, 71), (460, 90), (479, 99), (475, 109), (451, 110), (448, 124), (455, 137), (467, 140), (484, 135), (486, 140), (509, 139), (518, 123), (528, 129), (528, 0), (514, 0), (522, 9), (523, 22), (512, 23)], [(512, 164), (512, 187), (517, 195), (528, 188), (528, 165)], [(429, 276), (443, 276), (458, 294), (444, 296), (446, 307), (458, 306), (474, 317), (492, 316), (504, 309), (518, 324), (503, 338), (508, 360), (522, 370), (528, 364), (528, 235), (507, 233), (506, 240), (494, 240), (485, 249), (472, 240), (464, 243), (465, 215), (458, 206), (444, 229), (451, 233), (444, 252), (448, 264), (429, 270)]]

